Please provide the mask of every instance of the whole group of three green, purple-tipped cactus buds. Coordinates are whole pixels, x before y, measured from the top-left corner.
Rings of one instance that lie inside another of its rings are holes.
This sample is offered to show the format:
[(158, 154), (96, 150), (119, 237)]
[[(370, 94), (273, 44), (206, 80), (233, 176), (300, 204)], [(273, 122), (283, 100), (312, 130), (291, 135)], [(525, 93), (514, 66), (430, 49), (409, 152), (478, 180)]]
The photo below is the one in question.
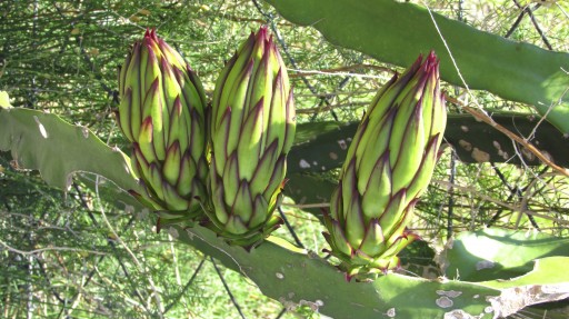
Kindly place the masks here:
[[(260, 243), (280, 223), (295, 107), (287, 69), (264, 27), (221, 71), (211, 108), (183, 58), (154, 31), (120, 72), (117, 119), (132, 144), (141, 202), (171, 222), (199, 220), (228, 242)], [(325, 216), (329, 251), (348, 278), (399, 266), (446, 126), (431, 52), (375, 97), (361, 120)]]

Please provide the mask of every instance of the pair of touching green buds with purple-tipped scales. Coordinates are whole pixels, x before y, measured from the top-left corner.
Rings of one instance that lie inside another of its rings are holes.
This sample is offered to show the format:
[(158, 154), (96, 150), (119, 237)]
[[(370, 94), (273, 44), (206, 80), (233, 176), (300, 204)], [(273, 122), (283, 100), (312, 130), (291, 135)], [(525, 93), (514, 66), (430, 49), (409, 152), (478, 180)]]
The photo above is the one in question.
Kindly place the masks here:
[(272, 213), (295, 137), (295, 107), (264, 27), (226, 64), (211, 110), (196, 73), (153, 30), (127, 57), (119, 92), (117, 119), (144, 189), (131, 193), (162, 222), (208, 220), (246, 247), (279, 225)]

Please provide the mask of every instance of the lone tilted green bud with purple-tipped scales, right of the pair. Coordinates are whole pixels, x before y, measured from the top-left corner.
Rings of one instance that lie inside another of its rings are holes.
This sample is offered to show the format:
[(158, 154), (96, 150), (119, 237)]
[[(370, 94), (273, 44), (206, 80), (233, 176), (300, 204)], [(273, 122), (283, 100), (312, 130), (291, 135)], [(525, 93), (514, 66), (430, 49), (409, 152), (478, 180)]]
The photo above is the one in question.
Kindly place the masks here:
[(406, 227), (430, 181), (446, 119), (432, 52), (375, 97), (325, 218), (325, 237), (348, 278), (398, 267), (397, 253), (416, 239)]

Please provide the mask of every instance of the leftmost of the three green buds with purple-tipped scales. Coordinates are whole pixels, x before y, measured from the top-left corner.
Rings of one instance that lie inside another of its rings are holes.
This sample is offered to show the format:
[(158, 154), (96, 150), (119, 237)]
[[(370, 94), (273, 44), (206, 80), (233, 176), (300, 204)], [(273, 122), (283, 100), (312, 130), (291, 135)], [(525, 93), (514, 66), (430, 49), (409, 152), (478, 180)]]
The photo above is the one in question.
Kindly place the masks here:
[(119, 77), (117, 119), (132, 142), (132, 167), (147, 191), (131, 192), (156, 210), (197, 213), (208, 175), (201, 82), (153, 30), (133, 44)]

